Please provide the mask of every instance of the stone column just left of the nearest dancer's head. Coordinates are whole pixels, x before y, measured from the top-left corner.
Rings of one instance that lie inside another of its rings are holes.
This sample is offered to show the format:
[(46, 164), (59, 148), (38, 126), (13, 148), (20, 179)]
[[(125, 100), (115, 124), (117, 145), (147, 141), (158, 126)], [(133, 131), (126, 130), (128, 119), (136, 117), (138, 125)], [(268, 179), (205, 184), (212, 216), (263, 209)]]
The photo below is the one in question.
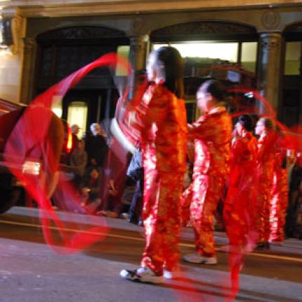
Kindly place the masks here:
[(147, 35), (138, 35), (130, 38), (129, 60), (133, 67), (133, 75), (130, 80), (129, 98), (133, 97), (139, 82), (140, 71), (145, 69), (147, 57)]

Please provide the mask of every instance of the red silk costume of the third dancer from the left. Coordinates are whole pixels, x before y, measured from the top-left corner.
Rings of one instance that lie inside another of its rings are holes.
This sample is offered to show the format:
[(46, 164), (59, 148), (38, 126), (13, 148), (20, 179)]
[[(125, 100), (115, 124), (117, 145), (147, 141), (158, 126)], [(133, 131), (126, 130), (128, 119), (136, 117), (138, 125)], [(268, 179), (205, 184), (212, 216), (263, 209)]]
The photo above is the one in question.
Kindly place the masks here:
[(230, 183), (223, 217), (231, 245), (253, 245), (254, 205), (256, 203), (257, 140), (249, 131), (233, 143), (230, 160)]

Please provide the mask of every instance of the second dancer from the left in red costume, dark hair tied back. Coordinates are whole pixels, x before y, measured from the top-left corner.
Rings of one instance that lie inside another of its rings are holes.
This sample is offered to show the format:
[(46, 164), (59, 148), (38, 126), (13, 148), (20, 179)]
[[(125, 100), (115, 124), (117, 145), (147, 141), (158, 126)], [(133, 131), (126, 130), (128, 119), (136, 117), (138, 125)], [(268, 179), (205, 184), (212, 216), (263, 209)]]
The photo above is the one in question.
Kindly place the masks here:
[(214, 213), (229, 173), (232, 121), (223, 104), (225, 88), (216, 80), (204, 82), (197, 91), (197, 105), (204, 114), (188, 126), (195, 140), (191, 222), (197, 253), (183, 258), (191, 263), (216, 264)]

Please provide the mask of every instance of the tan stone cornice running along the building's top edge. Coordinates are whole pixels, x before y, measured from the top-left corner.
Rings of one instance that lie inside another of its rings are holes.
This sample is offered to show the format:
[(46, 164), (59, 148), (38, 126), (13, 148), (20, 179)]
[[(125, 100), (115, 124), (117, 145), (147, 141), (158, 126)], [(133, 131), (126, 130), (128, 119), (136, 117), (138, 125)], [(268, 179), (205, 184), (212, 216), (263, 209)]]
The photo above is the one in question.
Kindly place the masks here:
[(273, 8), (302, 6), (301, 0), (11, 0), (1, 1), (1, 14), (9, 17), (18, 9), (25, 18), (65, 17), (84, 15), (112, 15), (132, 13), (153, 13), (166, 11), (206, 11), (230, 8)]

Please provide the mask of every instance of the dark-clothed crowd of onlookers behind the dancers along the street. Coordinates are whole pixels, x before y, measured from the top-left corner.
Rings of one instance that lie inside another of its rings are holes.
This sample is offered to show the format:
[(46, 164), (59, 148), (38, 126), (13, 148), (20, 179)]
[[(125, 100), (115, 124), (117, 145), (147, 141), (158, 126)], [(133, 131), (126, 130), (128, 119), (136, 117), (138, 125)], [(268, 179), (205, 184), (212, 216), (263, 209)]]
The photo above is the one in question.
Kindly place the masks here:
[[(100, 124), (91, 124), (90, 131), (78, 138), (79, 126), (72, 125), (72, 152), (69, 165), (72, 182), (79, 190), (82, 206), (89, 214), (126, 218), (130, 223), (142, 225), (143, 167), (141, 150), (129, 158), (126, 169), (119, 169), (118, 177), (110, 178), (106, 167), (109, 140)], [(190, 150), (189, 150), (190, 151)], [(190, 157), (190, 152), (189, 157)], [(302, 238), (302, 156), (288, 150), (284, 169), (287, 169), (289, 195), (285, 223), (287, 237)], [(298, 164), (298, 162), (300, 164)], [(120, 167), (119, 167), (120, 168)], [(123, 173), (124, 172), (124, 173)], [(107, 178), (107, 179), (106, 179)], [(183, 188), (192, 180), (192, 164), (188, 160)], [(107, 190), (105, 190), (107, 188)], [(105, 192), (104, 192), (105, 191)], [(224, 230), (223, 200), (216, 211), (216, 230)], [(190, 226), (190, 221), (184, 225)]]

